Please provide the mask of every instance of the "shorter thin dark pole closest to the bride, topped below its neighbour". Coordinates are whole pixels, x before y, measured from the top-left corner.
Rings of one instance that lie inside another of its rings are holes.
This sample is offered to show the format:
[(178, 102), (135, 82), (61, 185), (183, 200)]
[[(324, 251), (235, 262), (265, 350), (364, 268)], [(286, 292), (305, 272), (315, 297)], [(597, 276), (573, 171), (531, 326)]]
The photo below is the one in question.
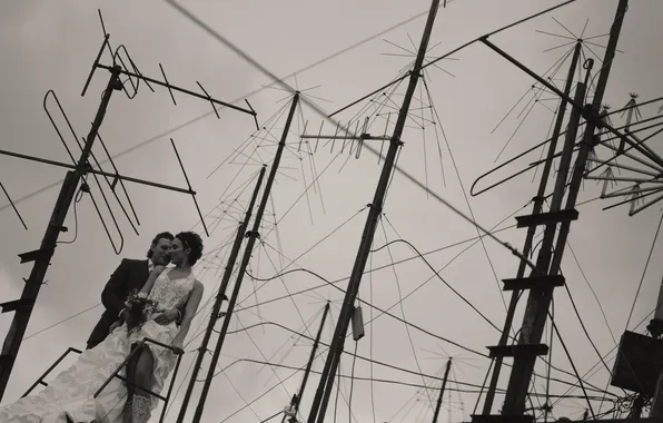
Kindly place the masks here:
[[(244, 236), (246, 234), (246, 229), (248, 228), (249, 220), (251, 219), (251, 214), (254, 212), (254, 206), (256, 204), (256, 198), (258, 198), (258, 193), (260, 191), (260, 186), (263, 185), (263, 178), (265, 176), (265, 166), (260, 169), (260, 175), (258, 176), (258, 181), (256, 183), (256, 188), (254, 189), (254, 194), (251, 196), (251, 200), (249, 206), (246, 210), (244, 216), (244, 220), (239, 225), (237, 229), (237, 236), (235, 237), (235, 243), (232, 244), (232, 249), (230, 250), (230, 256), (228, 258), (228, 264), (226, 265), (226, 269), (224, 270), (224, 276), (221, 277), (221, 286), (219, 287), (219, 292), (217, 293), (217, 297), (214, 303), (214, 307), (211, 309), (211, 315), (209, 316), (209, 324), (207, 325), (207, 329), (205, 331), (205, 336), (202, 337), (202, 342), (200, 343), (200, 347), (198, 348), (198, 355), (196, 356), (196, 364), (194, 365), (194, 373), (191, 374), (191, 378), (189, 381), (189, 385), (187, 386), (187, 392), (185, 393), (185, 399), (182, 401), (181, 409), (179, 410), (179, 415), (177, 416), (177, 423), (182, 423), (185, 420), (185, 415), (187, 414), (187, 406), (189, 405), (189, 401), (191, 400), (191, 393), (194, 392), (194, 386), (196, 385), (196, 378), (198, 377), (198, 372), (200, 371), (200, 366), (202, 365), (202, 358), (205, 357), (205, 353), (207, 352), (207, 345), (209, 344), (209, 338), (211, 337), (211, 333), (214, 332), (214, 326), (219, 318), (219, 312), (221, 309), (221, 304), (224, 299), (228, 299), (226, 297), (226, 291), (228, 289), (228, 283), (230, 282), (230, 277), (232, 276), (232, 270), (235, 269), (235, 263), (237, 263), (237, 256), (239, 256), (239, 249), (241, 248), (241, 242), (244, 240)], [(214, 368), (214, 367), (211, 367)]]

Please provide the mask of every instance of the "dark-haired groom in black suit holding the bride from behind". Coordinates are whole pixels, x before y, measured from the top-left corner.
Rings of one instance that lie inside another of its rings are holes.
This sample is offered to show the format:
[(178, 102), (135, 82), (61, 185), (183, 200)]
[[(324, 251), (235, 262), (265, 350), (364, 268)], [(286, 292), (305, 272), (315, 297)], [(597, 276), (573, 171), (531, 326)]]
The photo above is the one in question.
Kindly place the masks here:
[[(129, 293), (142, 287), (152, 268), (170, 263), (170, 243), (174, 238), (172, 234), (168, 232), (160, 233), (152, 239), (150, 249), (147, 252), (147, 259), (122, 258), (101, 293), (101, 303), (106, 311), (88, 338), (87, 350), (103, 342), (110, 332), (110, 326), (118, 318), (123, 319), (125, 302)], [(159, 323), (169, 324), (180, 319), (180, 312), (165, 313)]]

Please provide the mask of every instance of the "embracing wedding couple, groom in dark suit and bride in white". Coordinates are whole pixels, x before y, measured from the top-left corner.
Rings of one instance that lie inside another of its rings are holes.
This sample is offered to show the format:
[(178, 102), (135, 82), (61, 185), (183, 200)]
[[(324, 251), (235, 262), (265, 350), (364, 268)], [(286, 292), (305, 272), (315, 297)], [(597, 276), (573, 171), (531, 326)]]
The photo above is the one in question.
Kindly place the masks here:
[[(147, 423), (184, 351), (184, 341), (202, 297), (191, 266), (202, 256), (202, 240), (191, 232), (155, 237), (147, 260), (122, 259), (101, 294), (106, 311), (88, 348), (36, 395), (0, 409), (0, 422)], [(172, 267), (166, 267), (171, 263)], [(138, 343), (150, 338), (103, 391), (97, 390)]]

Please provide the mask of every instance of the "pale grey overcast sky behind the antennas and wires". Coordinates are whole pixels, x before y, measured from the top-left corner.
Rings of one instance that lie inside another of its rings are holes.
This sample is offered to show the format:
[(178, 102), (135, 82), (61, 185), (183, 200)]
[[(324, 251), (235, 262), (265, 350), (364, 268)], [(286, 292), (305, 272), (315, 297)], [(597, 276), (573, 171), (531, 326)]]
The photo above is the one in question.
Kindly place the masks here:
[[(427, 56), (444, 55), (555, 3), (447, 1), (446, 8), (437, 14)], [(502, 32), (492, 41), (562, 86), (568, 61), (560, 69), (555, 63), (573, 47), (570, 33), (578, 36), (584, 31), (583, 38), (587, 41), (584, 53), (595, 59), (594, 69), (598, 69), (598, 58), (604, 53), (601, 46), (606, 42), (606, 37), (601, 36), (610, 30), (616, 3), (614, 0), (578, 0)], [(429, 8), (429, 2), (423, 0), (359, 3), (287, 0), (259, 4), (182, 0), (180, 4), (273, 75), (295, 73), (285, 82), (301, 90), (306, 101), (326, 112), (364, 97), (407, 69), (413, 60), (413, 43), (419, 42)], [(208, 101), (181, 94), (175, 94), (177, 105), (174, 105), (166, 89), (155, 87), (151, 92), (141, 85), (133, 99), (121, 92), (112, 95), (100, 130), (121, 174), (186, 188), (170, 145), (172, 138), (206, 215), (210, 237), (205, 237), (206, 255), (195, 269), (205, 284), (205, 299), (189, 334), (188, 353), (175, 383), (177, 390), (186, 382), (185, 373), (200, 342), (199, 334), (209, 319), (209, 299), (218, 288), (229, 242), (250, 198), (255, 176), (260, 166), (269, 165), (274, 157), (285, 124), (284, 111), (289, 107), (289, 92), (270, 86), (273, 80), (268, 76), (166, 1), (139, 4), (125, 0), (112, 4), (72, 0), (3, 2), (0, 4), (1, 149), (69, 160), (42, 102), (47, 91), (53, 90), (78, 138), (89, 130), (108, 81), (108, 72), (98, 69), (86, 96), (80, 96), (103, 37), (97, 14), (99, 8), (106, 30), (111, 35), (111, 45), (113, 48), (126, 46), (144, 75), (161, 79), (160, 63), (174, 85), (199, 91), (198, 81), (212, 97), (238, 105), (248, 98), (264, 128), (256, 131), (251, 116), (229, 109), (219, 110), (217, 119)], [(604, 98), (604, 104), (613, 110), (626, 105), (631, 92), (640, 95), (639, 101), (657, 98), (663, 92), (660, 81), (663, 56), (659, 41), (663, 33), (656, 24), (661, 9), (663, 4), (653, 0), (631, 2)], [(419, 17), (382, 33), (416, 16)], [(363, 40), (368, 41), (359, 43)], [(419, 83), (417, 88), (403, 135), (405, 144), (398, 167), (483, 227), (504, 228), (496, 236), (519, 249), (525, 234), (523, 229), (513, 228), (513, 216), (530, 213), (528, 204), (536, 193), (533, 173), (479, 196), (468, 193), (475, 179), (496, 164), (546, 139), (556, 99), (543, 94), (533, 101), (538, 92), (532, 89), (534, 81), (485, 46), (473, 45), (452, 55), (451, 59), (441, 61), (438, 67), (429, 67), (424, 78), (426, 86)], [(103, 63), (110, 60), (108, 53), (102, 58)], [(548, 72), (551, 68), (554, 75)], [(370, 101), (363, 101), (335, 118), (344, 125), (350, 121), (350, 130), (355, 130), (369, 117), (368, 131), (382, 136), (393, 130), (404, 90), (405, 85), (400, 85), (394, 92), (388, 91), (389, 96), (378, 92)], [(522, 97), (524, 100), (518, 102)], [(75, 140), (65, 130), (66, 122), (52, 97), (47, 106), (72, 148)], [(655, 117), (660, 106), (642, 107), (642, 118)], [(507, 114), (512, 107), (513, 111)], [(614, 115), (612, 119), (615, 126), (622, 126), (625, 117)], [(307, 102), (296, 114), (260, 228), (261, 242), (251, 255), (249, 274), (253, 277), (245, 277), (241, 286), (239, 311), (230, 324), (231, 332), (236, 333), (230, 334), (224, 345), (218, 375), (205, 407), (205, 422), (260, 422), (283, 410), (301, 381), (303, 373), (295, 370), (306, 364), (311, 348), (309, 340), (273, 324), (246, 327), (261, 322), (277, 323), (313, 336), (323, 307), (330, 301), (332, 314), (323, 342), (330, 340), (343, 292), (324, 279), (339, 281), (336, 286), (342, 289), (347, 284), (345, 278), (353, 268), (367, 216), (366, 205), (373, 198), (382, 161), (378, 163), (367, 148), (357, 157), (356, 150), (348, 151), (349, 146), (342, 151), (338, 142), (332, 148), (327, 140), (299, 139), (303, 134), (333, 135), (334, 122), (321, 125), (323, 120)], [(382, 148), (380, 141), (367, 142), (378, 151)], [(647, 145), (661, 151), (656, 138)], [(99, 141), (93, 151), (100, 160), (106, 158)], [(484, 181), (495, 183), (499, 176), (506, 177), (528, 166), (540, 155), (541, 149), (537, 149)], [(597, 148), (596, 156), (611, 157), (605, 147)], [(624, 159), (624, 166), (644, 167), (642, 163), (629, 160)], [(110, 169), (108, 164), (102, 167)], [(639, 176), (622, 170), (629, 177)], [(0, 246), (0, 298), (3, 301), (20, 295), (22, 278), (29, 275), (30, 267), (21, 265), (17, 255), (39, 245), (63, 175), (61, 168), (0, 157), (0, 181), (29, 228), (24, 230), (6, 198), (0, 199), (0, 227), (6, 240)], [(105, 183), (101, 184), (109, 195)], [(121, 257), (142, 257), (154, 234), (161, 230), (194, 228), (204, 233), (190, 196), (129, 183), (126, 186), (140, 220), (139, 235), (132, 232), (112, 198), (111, 208), (121, 228), (118, 232), (102, 206), (101, 188), (95, 183), (90, 186), (95, 199), (101, 204), (103, 222), (109, 225), (115, 244), (109, 242), (89, 196), (83, 196), (76, 205), (76, 213), (73, 207), (70, 209), (69, 232), (60, 238), (75, 242), (60, 244), (56, 250), (3, 404), (20, 397), (67, 347), (85, 346), (101, 315), (98, 304), (103, 284)], [(629, 186), (630, 183), (620, 181), (616, 188)], [(580, 219), (572, 225), (562, 263), (586, 334), (565, 289), (556, 292), (554, 302), (556, 325), (581, 374), (598, 362), (595, 348), (607, 354), (625, 328), (644, 331), (644, 325), (636, 326), (649, 321), (663, 273), (662, 262), (655, 259), (663, 248), (661, 243), (654, 244), (652, 249), (661, 206), (654, 205), (632, 217), (627, 213), (629, 205), (603, 210), (616, 200), (596, 199), (601, 189), (601, 183), (583, 183), (578, 197), (582, 205), (577, 207)], [(128, 205), (123, 198), (122, 204)], [(454, 383), (451, 387), (469, 392), (449, 391), (439, 421), (468, 421), (477, 400), (477, 387), (463, 383), (481, 386), (489, 364), (473, 352), (485, 353), (487, 345), (497, 343), (497, 328), (503, 326), (505, 316), (504, 298), (508, 299), (502, 296), (498, 281), (515, 277), (518, 266), (517, 258), (494, 240), (475, 242), (478, 235), (474, 225), (403, 175), (394, 175), (367, 264), (367, 269), (375, 270), (364, 276), (359, 292), (359, 298), (365, 302), (362, 309), (366, 336), (357, 343), (350, 337), (345, 345), (346, 352), (356, 351), (363, 358), (353, 363), (350, 355), (344, 356), (340, 395), (337, 403), (330, 403), (327, 419), (336, 415), (340, 421), (429, 421), (432, 401), (441, 385), (431, 376), (441, 377), (446, 360), (452, 357)], [(434, 253), (426, 254), (424, 260), (398, 239), (407, 240), (418, 252)], [(119, 249), (120, 244), (121, 252), (116, 254), (113, 245)], [(650, 250), (653, 258), (647, 260)], [(404, 259), (409, 260), (390, 266)], [(439, 270), (439, 277), (429, 266)], [(293, 268), (313, 273), (295, 272), (275, 277)], [(309, 291), (297, 294), (305, 289)], [(517, 327), (524, 301), (519, 304)], [(378, 309), (388, 309), (390, 315), (380, 315)], [(375, 322), (368, 323), (373, 318)], [(7, 332), (10, 322), (11, 314), (0, 316), (0, 333)], [(545, 336), (550, 338), (550, 328)], [(215, 342), (216, 335), (211, 345)], [(551, 384), (552, 395), (563, 394), (568, 387), (565, 382), (575, 382), (572, 365), (560, 346), (554, 338), (552, 363), (571, 373), (552, 371), (553, 377), (563, 381)], [(320, 353), (315, 362), (316, 371), (323, 367), (326, 348)], [(605, 358), (608, 367), (613, 358), (614, 351)], [(69, 357), (62, 365), (72, 360)], [(201, 375), (207, 373), (208, 363), (209, 358)], [(603, 391), (608, 371), (602, 365), (596, 368), (598, 371), (587, 380)], [(547, 368), (540, 362), (536, 371), (543, 375)], [(353, 384), (352, 374), (357, 376)], [(505, 386), (507, 375), (505, 368), (501, 386)], [(314, 374), (301, 405), (305, 417), (317, 384), (318, 377)], [(545, 385), (543, 377), (536, 377), (534, 391), (545, 395)], [(611, 392), (623, 394), (615, 388)], [(175, 395), (166, 422), (175, 421), (182, 393), (184, 388)], [(581, 392), (576, 388), (571, 394)], [(601, 396), (600, 393), (593, 395)], [(352, 415), (347, 404), (350, 396)], [(532, 404), (537, 407), (538, 401), (544, 400), (533, 397)], [(498, 395), (495, 410), (501, 403)], [(600, 403), (592, 402), (596, 412)], [(580, 417), (585, 409), (584, 401), (567, 399), (555, 404), (553, 415)], [(601, 404), (601, 411), (610, 409), (610, 403)]]

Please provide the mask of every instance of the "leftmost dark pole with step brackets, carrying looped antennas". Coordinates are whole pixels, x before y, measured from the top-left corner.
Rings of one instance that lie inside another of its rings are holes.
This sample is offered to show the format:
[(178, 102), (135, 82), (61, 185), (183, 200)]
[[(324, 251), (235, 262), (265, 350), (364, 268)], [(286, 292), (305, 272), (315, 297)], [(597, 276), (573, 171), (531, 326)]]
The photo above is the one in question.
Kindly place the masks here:
[(0, 400), (2, 400), (2, 396), (4, 395), (4, 390), (7, 388), (9, 376), (11, 375), (13, 364), (21, 347), (21, 342), (23, 341), (26, 328), (28, 327), (28, 323), (32, 314), (32, 308), (37, 302), (39, 289), (43, 284), (46, 273), (50, 266), (50, 260), (56, 253), (58, 237), (60, 236), (61, 232), (67, 230), (67, 228), (63, 226), (65, 219), (67, 218), (67, 213), (69, 212), (69, 207), (73, 201), (76, 189), (78, 188), (81, 177), (90, 168), (88, 158), (92, 149), (92, 144), (97, 138), (99, 127), (101, 126), (101, 122), (106, 116), (106, 109), (108, 107), (108, 102), (110, 101), (110, 96), (112, 95), (113, 90), (122, 89), (122, 85), (119, 80), (121, 68), (116, 66), (109, 70), (110, 78), (108, 80), (106, 90), (103, 91), (101, 104), (99, 105), (99, 109), (95, 116), (90, 132), (86, 138), (86, 144), (80, 158), (78, 159), (76, 170), (68, 171), (65, 180), (62, 181), (62, 187), (60, 188), (60, 194), (58, 195), (58, 200), (53, 207), (53, 212), (46, 228), (46, 233), (43, 234), (41, 246), (37, 250), (20, 255), (21, 263), (34, 262), (34, 265), (30, 272), (30, 277), (26, 281), (26, 286), (21, 293), (21, 298), (17, 302), (9, 303), (3, 307), (3, 312), (16, 311), (16, 314), (11, 322), (11, 326), (9, 327), (9, 333), (4, 340), (2, 353), (0, 354)]

